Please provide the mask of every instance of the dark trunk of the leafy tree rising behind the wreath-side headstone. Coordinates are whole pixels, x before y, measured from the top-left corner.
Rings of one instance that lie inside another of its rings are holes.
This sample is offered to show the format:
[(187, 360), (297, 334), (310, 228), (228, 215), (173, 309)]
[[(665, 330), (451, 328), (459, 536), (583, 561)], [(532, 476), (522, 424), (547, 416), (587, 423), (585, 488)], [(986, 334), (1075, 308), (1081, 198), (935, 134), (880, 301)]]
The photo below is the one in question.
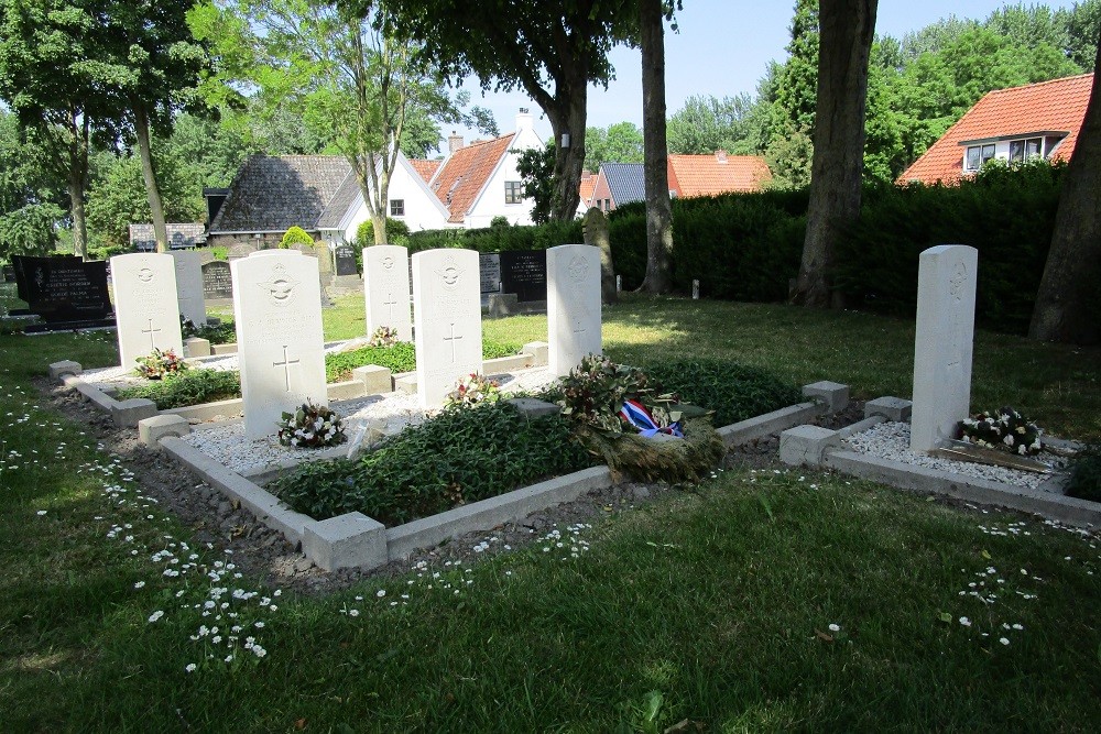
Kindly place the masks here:
[[(585, 121), (589, 88), (585, 77), (558, 88), (554, 109), (544, 111), (550, 118), (555, 136), (554, 199), (550, 219), (573, 221), (581, 200), (581, 167), (585, 165)], [(563, 101), (563, 98), (565, 100)], [(563, 145), (563, 133), (569, 134), (569, 145)]]

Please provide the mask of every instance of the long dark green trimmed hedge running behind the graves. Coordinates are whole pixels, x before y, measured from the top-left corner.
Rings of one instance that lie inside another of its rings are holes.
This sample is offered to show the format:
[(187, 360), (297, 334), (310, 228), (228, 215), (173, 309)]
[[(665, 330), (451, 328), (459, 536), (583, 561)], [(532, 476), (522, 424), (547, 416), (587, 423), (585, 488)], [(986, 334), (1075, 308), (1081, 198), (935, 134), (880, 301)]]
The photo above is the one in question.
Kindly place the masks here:
[[(989, 165), (956, 186), (880, 185), (864, 189), (860, 220), (838, 244), (836, 287), (851, 306), (913, 316), (917, 263), (937, 244), (979, 250), (975, 318), (1024, 332), (1047, 261), (1066, 164)], [(806, 235), (807, 189), (673, 200), (673, 283), (700, 282), (705, 298), (784, 300)], [(646, 273), (646, 209), (609, 216), (612, 259), (625, 289)], [(410, 235), (411, 250), (541, 250), (581, 242), (579, 221), (542, 227), (440, 230)], [(1098, 286), (1101, 298), (1101, 284)]]

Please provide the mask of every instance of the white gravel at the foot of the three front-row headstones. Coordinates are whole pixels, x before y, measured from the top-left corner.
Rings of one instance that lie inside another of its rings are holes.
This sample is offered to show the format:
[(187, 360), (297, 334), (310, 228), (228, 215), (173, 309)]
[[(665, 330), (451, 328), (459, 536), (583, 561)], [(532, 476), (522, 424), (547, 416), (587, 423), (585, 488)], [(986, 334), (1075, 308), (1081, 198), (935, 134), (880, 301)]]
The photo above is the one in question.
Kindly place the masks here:
[[(502, 393), (536, 391), (554, 380), (546, 368), (492, 376), (501, 383)], [(386, 393), (331, 403), (329, 407), (344, 418), (345, 434), (349, 441), (356, 437), (360, 427), (366, 425), (381, 427), (380, 424), (384, 424), (383, 432), (391, 436), (406, 426), (419, 424), (425, 419), (415, 394)], [(209, 427), (198, 426), (196, 430), (185, 436), (184, 440), (240, 474), (276, 467), (287, 461), (307, 461), (310, 453), (316, 451), (316, 449), (280, 446), (274, 434), (248, 440), (244, 438), (244, 424), (241, 420), (212, 424)]]

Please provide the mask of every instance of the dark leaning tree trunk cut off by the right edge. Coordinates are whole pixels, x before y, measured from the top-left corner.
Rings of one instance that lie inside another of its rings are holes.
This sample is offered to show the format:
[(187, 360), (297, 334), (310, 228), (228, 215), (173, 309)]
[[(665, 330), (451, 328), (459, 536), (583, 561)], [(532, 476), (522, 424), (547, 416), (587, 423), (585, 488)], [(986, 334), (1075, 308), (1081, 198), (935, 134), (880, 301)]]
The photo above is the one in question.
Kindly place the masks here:
[[(1101, 39), (1098, 59), (1101, 68)], [(1055, 215), (1047, 265), (1036, 294), (1028, 336), (1042, 341), (1101, 341), (1101, 76), (1094, 74), (1090, 103), (1067, 166)]]

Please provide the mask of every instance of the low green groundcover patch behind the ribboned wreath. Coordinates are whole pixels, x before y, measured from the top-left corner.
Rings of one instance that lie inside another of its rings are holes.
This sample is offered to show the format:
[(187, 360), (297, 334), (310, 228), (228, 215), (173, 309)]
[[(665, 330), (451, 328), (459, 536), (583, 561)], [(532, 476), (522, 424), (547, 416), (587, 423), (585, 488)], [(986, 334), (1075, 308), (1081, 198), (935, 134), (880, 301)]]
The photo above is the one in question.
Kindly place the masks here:
[(682, 399), (715, 412), (717, 426), (803, 402), (799, 388), (771, 372), (718, 359), (650, 362), (646, 373)]

